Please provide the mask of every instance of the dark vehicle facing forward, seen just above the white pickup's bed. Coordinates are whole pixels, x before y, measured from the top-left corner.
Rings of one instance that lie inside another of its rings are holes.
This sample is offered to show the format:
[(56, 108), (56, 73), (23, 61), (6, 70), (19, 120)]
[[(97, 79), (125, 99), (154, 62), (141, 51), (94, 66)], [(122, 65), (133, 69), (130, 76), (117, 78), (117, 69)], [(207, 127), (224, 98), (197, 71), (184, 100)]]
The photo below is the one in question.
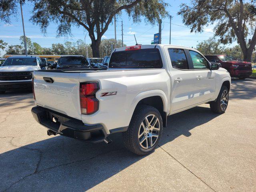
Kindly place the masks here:
[(67, 68), (91, 68), (91, 66), (84, 56), (61, 56), (56, 69)]

